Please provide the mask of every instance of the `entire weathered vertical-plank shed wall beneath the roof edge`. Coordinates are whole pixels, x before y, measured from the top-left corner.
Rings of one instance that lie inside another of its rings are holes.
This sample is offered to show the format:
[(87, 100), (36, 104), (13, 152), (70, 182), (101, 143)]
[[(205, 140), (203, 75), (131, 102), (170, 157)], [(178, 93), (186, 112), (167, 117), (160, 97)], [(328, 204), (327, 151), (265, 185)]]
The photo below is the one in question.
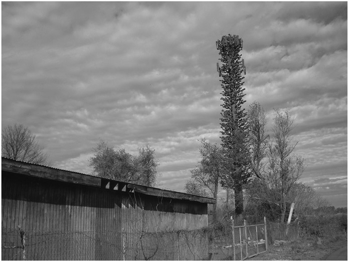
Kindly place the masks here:
[(144, 259), (143, 242), (206, 225), (206, 203), (2, 173), (2, 259)]

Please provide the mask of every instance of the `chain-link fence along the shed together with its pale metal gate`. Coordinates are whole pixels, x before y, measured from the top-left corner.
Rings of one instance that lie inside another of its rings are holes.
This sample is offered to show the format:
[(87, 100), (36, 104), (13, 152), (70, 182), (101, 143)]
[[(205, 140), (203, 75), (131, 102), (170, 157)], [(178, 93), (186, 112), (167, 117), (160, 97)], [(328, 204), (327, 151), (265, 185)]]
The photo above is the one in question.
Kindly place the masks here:
[[(223, 260), (266, 250), (265, 224), (159, 232), (2, 229), (6, 260)], [(235, 255), (234, 255), (235, 253)]]

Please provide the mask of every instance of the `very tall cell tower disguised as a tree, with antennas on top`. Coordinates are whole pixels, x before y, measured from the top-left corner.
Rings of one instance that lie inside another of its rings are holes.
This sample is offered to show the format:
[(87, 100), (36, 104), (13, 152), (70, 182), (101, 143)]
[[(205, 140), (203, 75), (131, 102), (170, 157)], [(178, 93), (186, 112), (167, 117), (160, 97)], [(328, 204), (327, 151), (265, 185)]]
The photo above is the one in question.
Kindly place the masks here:
[(243, 214), (242, 187), (251, 176), (248, 170), (248, 148), (246, 145), (247, 120), (242, 105), (246, 102), (242, 88), (246, 68), (242, 55), (242, 39), (237, 35), (223, 36), (216, 42), (223, 65), (217, 63), (217, 71), (222, 77), (223, 110), (221, 112), (222, 146), (226, 151), (226, 174), (222, 177), (222, 186), (233, 188), (235, 194), (235, 215)]

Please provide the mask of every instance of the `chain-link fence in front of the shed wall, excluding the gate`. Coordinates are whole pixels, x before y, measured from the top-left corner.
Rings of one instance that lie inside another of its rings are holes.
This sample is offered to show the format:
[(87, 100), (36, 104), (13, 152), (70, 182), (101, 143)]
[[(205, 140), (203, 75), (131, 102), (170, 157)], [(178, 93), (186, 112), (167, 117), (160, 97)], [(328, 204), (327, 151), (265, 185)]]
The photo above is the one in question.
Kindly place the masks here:
[[(22, 233), (21, 233), (22, 232)], [(208, 233), (47, 232), (2, 229), (5, 260), (203, 260)]]

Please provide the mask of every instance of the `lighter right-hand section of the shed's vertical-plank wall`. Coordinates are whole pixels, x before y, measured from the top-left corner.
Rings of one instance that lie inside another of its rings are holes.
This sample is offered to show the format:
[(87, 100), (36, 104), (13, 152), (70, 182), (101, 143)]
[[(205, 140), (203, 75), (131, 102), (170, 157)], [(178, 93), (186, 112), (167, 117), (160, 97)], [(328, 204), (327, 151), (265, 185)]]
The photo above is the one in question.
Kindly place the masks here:
[[(151, 259), (173, 260), (179, 256), (182, 259), (193, 259), (189, 249), (180, 253), (182, 246), (177, 244), (180, 244), (181, 239), (182, 245), (187, 238), (180, 235), (178, 230), (195, 230), (207, 226), (207, 204), (137, 193), (123, 195), (121, 200), (121, 224), (127, 236), (127, 260), (149, 258), (156, 251), (156, 246), (160, 250)], [(154, 232), (159, 233), (154, 236)], [(207, 250), (202, 243), (192, 247), (197, 247), (197, 252)]]

